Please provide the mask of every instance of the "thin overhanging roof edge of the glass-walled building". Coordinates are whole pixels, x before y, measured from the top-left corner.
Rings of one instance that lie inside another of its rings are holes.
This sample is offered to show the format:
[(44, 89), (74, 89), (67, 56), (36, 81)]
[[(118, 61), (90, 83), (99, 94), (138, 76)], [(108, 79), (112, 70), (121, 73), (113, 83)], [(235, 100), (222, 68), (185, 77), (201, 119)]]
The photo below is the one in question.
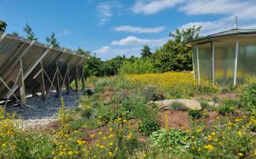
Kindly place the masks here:
[(229, 31), (222, 31), (216, 34), (207, 35), (205, 37), (195, 38), (188, 43), (198, 42), (206, 39), (210, 40), (210, 38), (218, 38), (218, 37), (225, 37), (225, 36), (238, 35), (238, 34), (256, 34), (256, 29), (239, 29), (238, 28), (238, 29), (232, 29)]

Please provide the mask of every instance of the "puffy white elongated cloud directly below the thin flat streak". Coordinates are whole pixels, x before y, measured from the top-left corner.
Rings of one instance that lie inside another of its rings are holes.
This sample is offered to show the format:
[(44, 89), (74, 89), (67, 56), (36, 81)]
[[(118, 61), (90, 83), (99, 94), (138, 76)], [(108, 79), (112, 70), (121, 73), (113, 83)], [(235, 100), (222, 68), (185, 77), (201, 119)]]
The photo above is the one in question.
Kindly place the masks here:
[(121, 40), (115, 40), (111, 42), (111, 45), (162, 45), (167, 42), (168, 38), (158, 38), (158, 39), (147, 39), (147, 38), (137, 38), (135, 36), (128, 36)]

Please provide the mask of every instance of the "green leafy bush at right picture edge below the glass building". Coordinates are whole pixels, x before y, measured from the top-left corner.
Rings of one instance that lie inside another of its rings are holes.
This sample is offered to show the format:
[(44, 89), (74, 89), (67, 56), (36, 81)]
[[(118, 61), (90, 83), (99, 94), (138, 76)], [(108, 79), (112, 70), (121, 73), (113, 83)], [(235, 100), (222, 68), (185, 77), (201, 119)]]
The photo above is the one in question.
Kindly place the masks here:
[(246, 84), (240, 96), (241, 107), (256, 114), (256, 81)]

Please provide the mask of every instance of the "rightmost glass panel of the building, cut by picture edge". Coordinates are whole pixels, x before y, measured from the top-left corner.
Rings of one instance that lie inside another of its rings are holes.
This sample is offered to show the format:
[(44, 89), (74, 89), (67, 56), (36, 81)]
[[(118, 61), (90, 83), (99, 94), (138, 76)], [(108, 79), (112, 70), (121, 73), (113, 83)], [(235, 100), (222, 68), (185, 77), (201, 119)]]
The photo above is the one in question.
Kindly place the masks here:
[(256, 77), (256, 37), (239, 38), (237, 82)]

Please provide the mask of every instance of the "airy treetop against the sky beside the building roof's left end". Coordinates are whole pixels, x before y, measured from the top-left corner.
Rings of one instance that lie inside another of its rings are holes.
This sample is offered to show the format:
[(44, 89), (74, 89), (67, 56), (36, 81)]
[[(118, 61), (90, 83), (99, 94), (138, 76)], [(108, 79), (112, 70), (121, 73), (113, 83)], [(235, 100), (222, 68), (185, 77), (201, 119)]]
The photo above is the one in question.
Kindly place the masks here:
[(174, 42), (187, 44), (192, 39), (199, 38), (201, 27), (187, 27), (184, 29), (176, 29), (176, 31), (169, 34), (173, 38)]

